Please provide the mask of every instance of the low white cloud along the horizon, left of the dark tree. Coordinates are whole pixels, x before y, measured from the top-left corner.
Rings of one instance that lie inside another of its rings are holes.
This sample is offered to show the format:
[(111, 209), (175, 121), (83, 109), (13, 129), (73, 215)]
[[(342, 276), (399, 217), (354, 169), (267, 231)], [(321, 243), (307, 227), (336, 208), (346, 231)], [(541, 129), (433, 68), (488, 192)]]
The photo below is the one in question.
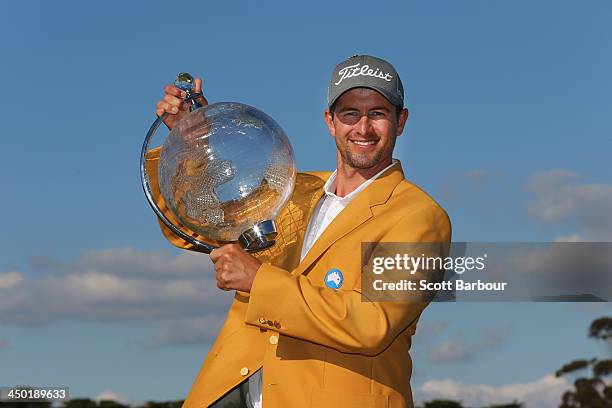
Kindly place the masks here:
[(419, 401), (447, 398), (462, 401), (466, 406), (484, 406), (519, 401), (525, 408), (558, 407), (561, 395), (570, 388), (565, 378), (546, 375), (530, 383), (503, 386), (464, 384), (456, 380), (429, 380), (415, 390)]

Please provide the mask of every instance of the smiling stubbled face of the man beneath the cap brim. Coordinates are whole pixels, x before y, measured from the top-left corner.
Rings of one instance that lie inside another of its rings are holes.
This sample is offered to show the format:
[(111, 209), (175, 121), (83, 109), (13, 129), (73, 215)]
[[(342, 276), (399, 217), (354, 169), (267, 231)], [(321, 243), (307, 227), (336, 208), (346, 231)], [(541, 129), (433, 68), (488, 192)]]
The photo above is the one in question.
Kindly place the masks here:
[(384, 96), (369, 88), (354, 88), (325, 112), (325, 121), (338, 149), (339, 165), (371, 170), (391, 164), (395, 139), (404, 130), (408, 110), (399, 115)]

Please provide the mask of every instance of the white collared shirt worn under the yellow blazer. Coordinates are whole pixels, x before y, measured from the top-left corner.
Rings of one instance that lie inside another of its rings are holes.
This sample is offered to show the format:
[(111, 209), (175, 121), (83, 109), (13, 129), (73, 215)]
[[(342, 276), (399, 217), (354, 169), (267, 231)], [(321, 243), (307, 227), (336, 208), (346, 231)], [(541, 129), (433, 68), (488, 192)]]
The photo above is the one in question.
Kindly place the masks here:
[[(304, 243), (302, 244), (302, 254), (300, 256), (300, 261), (304, 259), (310, 248), (317, 242), (317, 239), (323, 234), (323, 231), (332, 223), (334, 218), (344, 210), (344, 208), (349, 205), (351, 201), (357, 195), (362, 192), (367, 186), (372, 184), (374, 180), (376, 180), (381, 174), (385, 171), (389, 170), (391, 167), (395, 166), (399, 163), (398, 160), (393, 159), (390, 165), (376, 173), (371, 178), (364, 181), (359, 187), (355, 190), (351, 191), (349, 194), (344, 197), (338, 197), (336, 195), (336, 176), (338, 175), (338, 170), (335, 170), (329, 179), (325, 182), (323, 186), (323, 191), (325, 195), (321, 197), (317, 206), (315, 207), (312, 216), (310, 217), (310, 222), (308, 223), (308, 228), (306, 228), (306, 233), (304, 234)], [(247, 398), (247, 403), (250, 403), (249, 408), (262, 408), (261, 399), (261, 382), (262, 382), (262, 372), (261, 369), (257, 370), (252, 376), (249, 377), (249, 398)]]

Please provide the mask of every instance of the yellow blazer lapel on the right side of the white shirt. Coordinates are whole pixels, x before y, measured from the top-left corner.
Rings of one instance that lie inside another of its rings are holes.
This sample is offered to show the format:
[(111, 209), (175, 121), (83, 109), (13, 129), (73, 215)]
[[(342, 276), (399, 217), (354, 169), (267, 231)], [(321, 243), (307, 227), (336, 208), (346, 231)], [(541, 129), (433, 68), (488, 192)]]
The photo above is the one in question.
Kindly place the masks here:
[[(399, 161), (389, 170), (381, 174), (376, 180), (366, 187), (355, 197), (348, 206), (329, 224), (321, 236), (314, 243), (302, 262), (293, 270), (293, 275), (304, 273), (312, 263), (317, 260), (334, 242), (372, 218), (372, 208), (385, 203), (393, 189), (404, 179), (404, 173)], [(317, 194), (318, 199), (311, 204), (308, 220), (312, 217), (312, 211), (319, 201), (321, 194)], [(310, 222), (310, 221), (308, 221)], [(305, 234), (304, 234), (305, 235)], [(299, 248), (302, 247), (304, 236), (300, 240)]]

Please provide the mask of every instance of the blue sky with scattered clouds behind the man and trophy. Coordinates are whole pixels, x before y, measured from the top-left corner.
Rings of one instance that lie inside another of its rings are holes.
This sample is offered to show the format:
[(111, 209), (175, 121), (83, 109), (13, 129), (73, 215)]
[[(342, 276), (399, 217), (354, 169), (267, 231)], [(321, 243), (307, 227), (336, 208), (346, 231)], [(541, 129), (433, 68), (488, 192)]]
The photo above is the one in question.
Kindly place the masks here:
[[(202, 76), (209, 101), (270, 114), (298, 168), (318, 170), (335, 165), (322, 120), (331, 69), (386, 58), (411, 112), (396, 157), (446, 208), (454, 240), (612, 241), (611, 17), (603, 0), (7, 3), (0, 385), (132, 402), (188, 390), (229, 298), (205, 257), (161, 237), (138, 176), (155, 102), (179, 71)], [(601, 351), (585, 335), (606, 313), (433, 305), (413, 386), (555, 389), (546, 375)]]

